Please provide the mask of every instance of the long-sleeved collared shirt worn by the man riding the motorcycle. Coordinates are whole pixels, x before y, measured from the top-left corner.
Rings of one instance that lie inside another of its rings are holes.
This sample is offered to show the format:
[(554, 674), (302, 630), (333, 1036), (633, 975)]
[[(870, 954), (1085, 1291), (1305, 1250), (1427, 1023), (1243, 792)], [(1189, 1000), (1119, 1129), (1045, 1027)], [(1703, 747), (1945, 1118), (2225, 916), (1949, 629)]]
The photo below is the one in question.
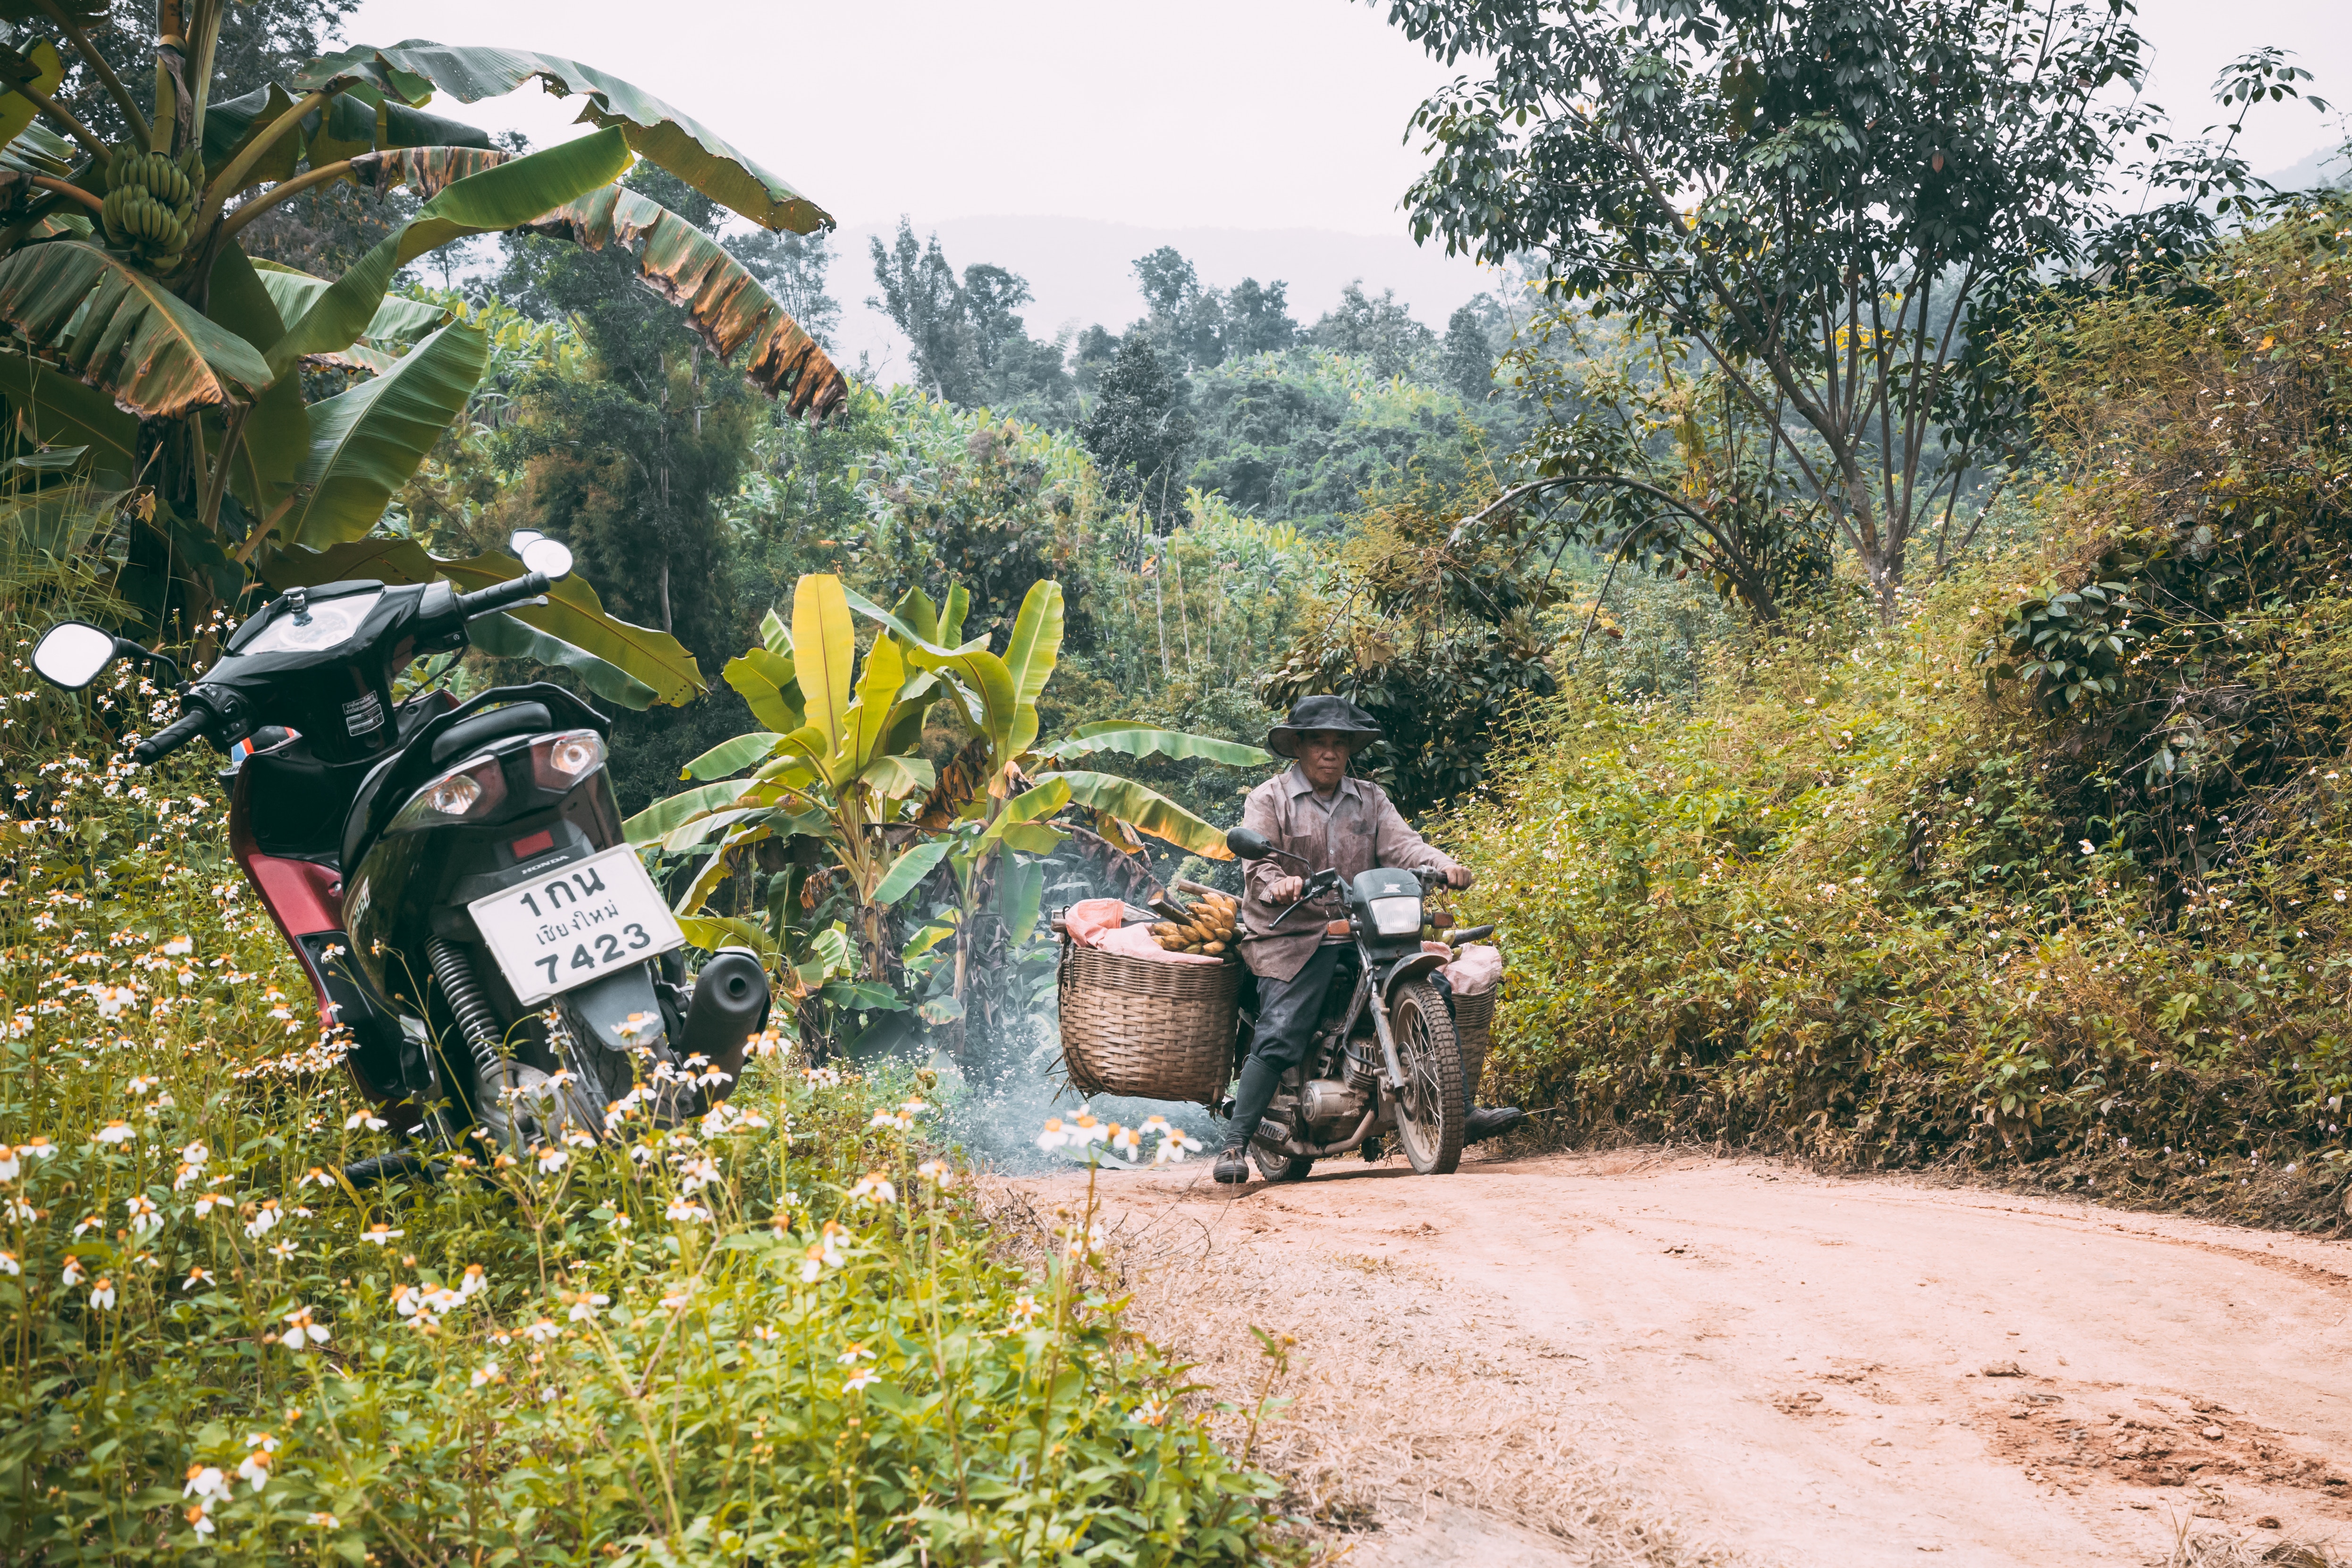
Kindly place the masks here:
[(1324, 940), (1324, 926), (1345, 917), (1338, 893), (1310, 905), (1301, 905), (1275, 924), (1282, 905), (1265, 898), (1265, 889), (1282, 877), (1303, 877), (1317, 870), (1338, 870), (1341, 882), (1369, 872), (1374, 865), (1399, 870), (1449, 867), (1454, 858), (1432, 849), (1414, 832), (1388, 792), (1369, 778), (1341, 778), (1329, 797), (1319, 797), (1308, 783), (1305, 769), (1291, 764), (1249, 792), (1242, 806), (1242, 827), (1265, 835), (1265, 839), (1298, 860), (1247, 863), (1242, 872), (1242, 957), (1249, 969), (1268, 980), (1289, 980), (1308, 954)]

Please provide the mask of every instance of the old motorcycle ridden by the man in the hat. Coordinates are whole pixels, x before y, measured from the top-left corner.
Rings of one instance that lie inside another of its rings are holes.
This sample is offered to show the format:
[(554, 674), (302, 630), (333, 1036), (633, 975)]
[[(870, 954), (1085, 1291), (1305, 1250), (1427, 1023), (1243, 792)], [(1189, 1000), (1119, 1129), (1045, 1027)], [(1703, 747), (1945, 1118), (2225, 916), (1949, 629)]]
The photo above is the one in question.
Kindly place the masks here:
[[(1418, 1175), (1449, 1175), (1461, 1166), (1475, 1086), (1463, 1081), (1454, 1011), (1437, 980), (1446, 954), (1421, 943), (1423, 896), (1444, 872), (1374, 867), (1343, 884), (1336, 870), (1317, 872), (1249, 827), (1228, 832), (1225, 846), (1242, 860), (1272, 856), (1310, 872), (1275, 926), (1336, 891), (1345, 917), (1329, 924), (1329, 936), (1352, 938), (1305, 1060), (1282, 1074), (1249, 1143), (1258, 1171), (1270, 1182), (1296, 1182), (1317, 1159), (1395, 1133)], [(1472, 926), (1442, 936), (1446, 947), (1463, 947), (1491, 933), (1494, 926)], [(1235, 1070), (1254, 1025), (1244, 1011)]]

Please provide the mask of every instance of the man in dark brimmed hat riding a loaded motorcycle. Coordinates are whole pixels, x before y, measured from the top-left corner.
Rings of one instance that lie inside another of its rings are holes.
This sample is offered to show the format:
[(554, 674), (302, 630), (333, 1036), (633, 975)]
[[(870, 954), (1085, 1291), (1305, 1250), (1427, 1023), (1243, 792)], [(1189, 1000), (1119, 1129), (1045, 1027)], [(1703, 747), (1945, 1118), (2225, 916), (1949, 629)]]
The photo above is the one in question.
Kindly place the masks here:
[[(1303, 860), (1310, 872), (1338, 870), (1341, 882), (1381, 865), (1444, 870), (1446, 886), (1470, 886), (1470, 867), (1456, 865), (1414, 832), (1381, 785), (1350, 778), (1350, 757), (1378, 738), (1381, 726), (1355, 703), (1338, 696), (1301, 698), (1265, 736), (1265, 750), (1291, 757), (1294, 764), (1249, 792), (1242, 825)], [(1294, 863), (1284, 865), (1263, 858), (1249, 860), (1242, 872), (1242, 959), (1258, 978), (1258, 1027), (1232, 1095), (1225, 1147), (1216, 1157), (1214, 1175), (1221, 1182), (1249, 1180), (1249, 1140), (1282, 1074), (1315, 1041), (1341, 954), (1352, 952), (1345, 936), (1329, 933), (1329, 922), (1343, 912), (1336, 896), (1289, 907), (1305, 891), (1305, 875)], [(1475, 1084), (1463, 1086), (1465, 1095), (1475, 1091)], [(1517, 1107), (1470, 1110), (1465, 1140), (1491, 1138), (1522, 1117)]]

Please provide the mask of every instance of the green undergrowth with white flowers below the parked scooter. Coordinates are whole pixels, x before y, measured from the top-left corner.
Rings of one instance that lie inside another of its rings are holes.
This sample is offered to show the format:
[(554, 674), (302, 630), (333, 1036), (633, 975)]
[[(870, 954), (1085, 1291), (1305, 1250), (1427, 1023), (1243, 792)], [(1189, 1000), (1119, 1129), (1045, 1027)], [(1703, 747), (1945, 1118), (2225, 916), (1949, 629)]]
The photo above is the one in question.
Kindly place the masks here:
[[(7, 616), (19, 668), (26, 621)], [(24, 597), (33, 597), (24, 592)], [(1120, 1326), (1091, 1211), (1030, 1239), (924, 1147), (929, 1079), (774, 1034), (699, 1124), (383, 1147), (223, 851), (26, 682), (0, 884), (0, 1542), (12, 1561), (1254, 1556), (1272, 1483)]]

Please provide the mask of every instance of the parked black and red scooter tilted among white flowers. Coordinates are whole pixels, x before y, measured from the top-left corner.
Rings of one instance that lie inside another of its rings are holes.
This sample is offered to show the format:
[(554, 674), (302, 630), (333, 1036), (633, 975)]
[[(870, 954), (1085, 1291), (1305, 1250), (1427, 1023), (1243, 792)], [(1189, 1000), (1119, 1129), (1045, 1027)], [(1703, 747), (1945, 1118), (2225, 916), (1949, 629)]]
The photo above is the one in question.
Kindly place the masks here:
[[(513, 541), (524, 576), (480, 592), (379, 581), (289, 588), (200, 679), (85, 621), (33, 651), (80, 691), (115, 658), (167, 670), (179, 717), (141, 764), (200, 736), (233, 757), (228, 846), (346, 1039), (376, 1114), (430, 1152), (527, 1150), (633, 1114), (701, 1114), (734, 1088), (769, 985), (741, 947), (687, 985), (684, 933), (621, 830), (612, 719), (555, 684), (393, 703), (409, 661), (468, 623), (546, 604), (572, 552)], [(358, 1161), (355, 1182), (426, 1154)]]

